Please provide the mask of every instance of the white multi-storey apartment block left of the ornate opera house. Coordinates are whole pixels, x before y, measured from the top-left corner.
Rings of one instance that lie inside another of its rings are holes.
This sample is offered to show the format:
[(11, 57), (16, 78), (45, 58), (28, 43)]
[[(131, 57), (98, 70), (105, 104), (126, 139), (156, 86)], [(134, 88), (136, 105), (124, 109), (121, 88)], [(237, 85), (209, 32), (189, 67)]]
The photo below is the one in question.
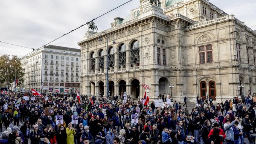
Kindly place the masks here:
[[(44, 46), (26, 57), (24, 86), (38, 92), (73, 93), (80, 88), (80, 49)], [(23, 62), (24, 63), (24, 62)]]

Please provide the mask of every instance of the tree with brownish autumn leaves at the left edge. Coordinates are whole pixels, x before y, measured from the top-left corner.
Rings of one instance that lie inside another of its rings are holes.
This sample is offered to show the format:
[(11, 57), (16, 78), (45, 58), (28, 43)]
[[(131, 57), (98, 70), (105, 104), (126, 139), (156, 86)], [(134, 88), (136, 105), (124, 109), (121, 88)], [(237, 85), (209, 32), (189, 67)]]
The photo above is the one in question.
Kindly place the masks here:
[(25, 69), (21, 67), (20, 58), (17, 56), (3, 55), (0, 56), (0, 87), (10, 86), (16, 79), (19, 79), (17, 86), (22, 86)]

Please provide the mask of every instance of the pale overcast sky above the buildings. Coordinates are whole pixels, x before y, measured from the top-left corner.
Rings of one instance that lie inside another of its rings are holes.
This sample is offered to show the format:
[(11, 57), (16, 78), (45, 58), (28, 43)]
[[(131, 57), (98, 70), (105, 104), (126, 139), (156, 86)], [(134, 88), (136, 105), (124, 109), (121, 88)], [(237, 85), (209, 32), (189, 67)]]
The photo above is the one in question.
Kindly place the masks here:
[[(96, 18), (128, 0), (0, 0), (0, 41), (29, 48), (40, 48), (48, 42)], [(247, 26), (256, 25), (256, 0), (210, 0), (227, 14), (234, 14)], [(137, 8), (140, 0), (126, 5), (95, 20), (98, 31), (111, 27), (115, 17), (125, 18), (131, 9)], [(256, 26), (251, 27), (256, 30)], [(73, 31), (50, 45), (80, 48), (87, 25)], [(0, 42), (3, 54), (24, 56), (31, 49)]]

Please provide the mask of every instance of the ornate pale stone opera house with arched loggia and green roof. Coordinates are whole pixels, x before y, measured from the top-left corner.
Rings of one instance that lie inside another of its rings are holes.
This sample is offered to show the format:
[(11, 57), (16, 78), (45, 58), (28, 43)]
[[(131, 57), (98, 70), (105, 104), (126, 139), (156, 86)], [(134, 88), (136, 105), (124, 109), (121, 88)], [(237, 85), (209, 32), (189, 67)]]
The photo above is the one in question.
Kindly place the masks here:
[(156, 1), (140, 0), (111, 28), (85, 33), (81, 94), (106, 96), (108, 87), (136, 99), (147, 85), (150, 100), (172, 92), (177, 102), (221, 102), (256, 93), (256, 31), (209, 0)]

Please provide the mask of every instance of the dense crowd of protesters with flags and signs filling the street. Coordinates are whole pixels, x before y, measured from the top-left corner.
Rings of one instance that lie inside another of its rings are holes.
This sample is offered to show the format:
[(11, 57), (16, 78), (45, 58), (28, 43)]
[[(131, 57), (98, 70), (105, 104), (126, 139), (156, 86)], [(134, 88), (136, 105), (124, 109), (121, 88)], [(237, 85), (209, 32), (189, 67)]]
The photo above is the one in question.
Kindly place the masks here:
[[(28, 96), (29, 100), (23, 99)], [(234, 97), (224, 103), (197, 98), (189, 110), (174, 101), (165, 107), (155, 107), (154, 101), (142, 101), (120, 96), (81, 96), (32, 93), (0, 94), (0, 144), (244, 144), (248, 138), (254, 144), (256, 133), (256, 96), (243, 102)], [(47, 97), (47, 100), (46, 100)], [(167, 97), (168, 98), (168, 97)], [(166, 97), (159, 99), (166, 103)], [(54, 110), (46, 115), (46, 108)], [(133, 123), (132, 116), (138, 121)], [(63, 124), (56, 124), (56, 116)], [(72, 124), (78, 116), (78, 124)], [(19, 128), (19, 124), (24, 124)], [(252, 132), (251, 132), (252, 131)]]

